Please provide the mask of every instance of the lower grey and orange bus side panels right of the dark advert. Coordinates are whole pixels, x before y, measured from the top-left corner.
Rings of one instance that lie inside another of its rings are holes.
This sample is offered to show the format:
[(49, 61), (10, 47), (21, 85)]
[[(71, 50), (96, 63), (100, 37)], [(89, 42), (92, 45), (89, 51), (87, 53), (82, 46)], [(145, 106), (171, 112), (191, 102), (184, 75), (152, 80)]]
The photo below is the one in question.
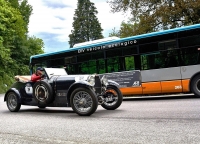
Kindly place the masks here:
[(182, 92), (180, 67), (142, 71), (143, 94)]

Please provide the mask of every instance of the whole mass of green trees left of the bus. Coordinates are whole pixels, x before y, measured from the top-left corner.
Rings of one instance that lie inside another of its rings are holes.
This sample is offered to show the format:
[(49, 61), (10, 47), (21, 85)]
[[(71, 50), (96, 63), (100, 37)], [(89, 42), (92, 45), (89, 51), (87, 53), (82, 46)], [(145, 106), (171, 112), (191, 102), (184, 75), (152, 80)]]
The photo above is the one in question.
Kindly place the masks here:
[(43, 41), (28, 36), (31, 12), (27, 0), (0, 0), (0, 93), (13, 83), (14, 75), (29, 73), (31, 55), (44, 52)]

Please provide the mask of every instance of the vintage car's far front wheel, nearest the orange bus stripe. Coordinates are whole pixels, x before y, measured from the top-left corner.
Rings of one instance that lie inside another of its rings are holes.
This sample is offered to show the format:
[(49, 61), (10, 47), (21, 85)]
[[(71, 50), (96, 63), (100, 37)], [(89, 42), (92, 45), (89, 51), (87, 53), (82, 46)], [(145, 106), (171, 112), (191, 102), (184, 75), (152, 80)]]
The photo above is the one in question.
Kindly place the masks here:
[(106, 93), (105, 93), (105, 99), (109, 99), (110, 101), (104, 102), (101, 106), (107, 110), (115, 110), (117, 109), (123, 101), (123, 96), (121, 91), (113, 86), (108, 86)]

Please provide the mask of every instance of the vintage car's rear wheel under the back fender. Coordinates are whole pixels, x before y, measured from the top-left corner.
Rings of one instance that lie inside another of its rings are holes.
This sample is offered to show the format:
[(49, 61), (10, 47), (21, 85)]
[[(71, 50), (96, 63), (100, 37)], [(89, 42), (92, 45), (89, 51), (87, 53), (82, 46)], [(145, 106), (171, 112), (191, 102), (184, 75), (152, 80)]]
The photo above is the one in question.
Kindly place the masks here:
[(19, 98), (17, 94), (14, 92), (8, 93), (6, 97), (6, 104), (11, 112), (18, 112), (19, 109), (21, 108), (21, 104), (19, 103)]

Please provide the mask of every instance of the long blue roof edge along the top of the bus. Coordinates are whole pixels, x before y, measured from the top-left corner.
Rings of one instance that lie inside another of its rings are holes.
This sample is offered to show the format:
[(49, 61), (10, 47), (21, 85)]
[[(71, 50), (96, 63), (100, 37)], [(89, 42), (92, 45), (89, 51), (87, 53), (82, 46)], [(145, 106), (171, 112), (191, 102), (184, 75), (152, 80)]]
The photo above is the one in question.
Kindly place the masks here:
[(61, 50), (61, 51), (56, 51), (56, 52), (33, 55), (33, 56), (30, 57), (30, 62), (31, 62), (32, 58), (39, 58), (39, 57), (50, 56), (50, 55), (54, 55), (54, 54), (61, 54), (61, 53), (65, 53), (65, 52), (76, 51), (78, 49), (91, 48), (91, 47), (115, 43), (115, 42), (124, 42), (124, 41), (133, 40), (133, 39), (139, 40), (139, 39), (142, 39), (142, 38), (153, 37), (153, 36), (164, 35), (164, 34), (170, 34), (170, 33), (175, 33), (175, 32), (181, 32), (181, 31), (185, 31), (185, 30), (192, 30), (192, 29), (196, 29), (196, 28), (200, 28), (200, 24), (184, 26), (184, 27), (179, 27), (179, 28), (174, 28), (174, 29), (168, 29), (168, 30), (163, 30), (163, 31), (158, 31), (158, 32), (152, 32), (152, 33), (147, 33), (147, 34), (141, 34), (141, 35), (126, 37), (126, 38), (111, 40), (111, 41), (103, 41), (103, 42), (94, 43), (94, 44), (85, 45), (85, 46), (77, 46), (76, 48), (69, 48), (69, 49), (66, 49), (66, 50)]

